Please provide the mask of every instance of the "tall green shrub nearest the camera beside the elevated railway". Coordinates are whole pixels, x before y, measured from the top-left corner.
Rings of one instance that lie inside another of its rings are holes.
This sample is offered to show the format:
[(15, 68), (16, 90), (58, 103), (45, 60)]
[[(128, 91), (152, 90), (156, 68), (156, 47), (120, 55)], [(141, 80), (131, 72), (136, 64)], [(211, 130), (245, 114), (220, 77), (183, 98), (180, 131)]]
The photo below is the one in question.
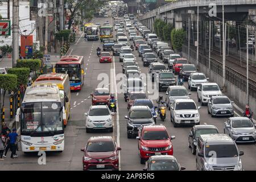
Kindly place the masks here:
[(172, 46), (176, 51), (181, 51), (182, 45), (184, 43), (186, 36), (186, 32), (181, 28), (181, 29), (172, 29), (171, 31), (171, 42)]

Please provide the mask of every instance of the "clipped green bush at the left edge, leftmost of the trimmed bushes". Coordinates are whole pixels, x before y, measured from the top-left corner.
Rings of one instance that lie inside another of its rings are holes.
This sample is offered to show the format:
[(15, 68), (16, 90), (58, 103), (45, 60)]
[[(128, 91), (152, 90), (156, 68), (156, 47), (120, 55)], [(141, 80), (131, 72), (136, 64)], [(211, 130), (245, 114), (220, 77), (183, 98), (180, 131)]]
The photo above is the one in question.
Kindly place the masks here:
[(18, 86), (18, 78), (13, 74), (0, 75), (0, 88), (3, 90), (15, 90)]

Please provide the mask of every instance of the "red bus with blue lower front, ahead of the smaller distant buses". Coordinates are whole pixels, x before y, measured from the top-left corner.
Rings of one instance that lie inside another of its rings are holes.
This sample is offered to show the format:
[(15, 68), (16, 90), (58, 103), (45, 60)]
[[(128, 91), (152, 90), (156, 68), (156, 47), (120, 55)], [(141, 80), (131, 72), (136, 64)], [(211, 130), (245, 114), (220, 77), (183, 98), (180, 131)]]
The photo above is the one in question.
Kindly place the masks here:
[(55, 64), (55, 71), (68, 74), (71, 90), (81, 90), (84, 85), (84, 56), (62, 56)]

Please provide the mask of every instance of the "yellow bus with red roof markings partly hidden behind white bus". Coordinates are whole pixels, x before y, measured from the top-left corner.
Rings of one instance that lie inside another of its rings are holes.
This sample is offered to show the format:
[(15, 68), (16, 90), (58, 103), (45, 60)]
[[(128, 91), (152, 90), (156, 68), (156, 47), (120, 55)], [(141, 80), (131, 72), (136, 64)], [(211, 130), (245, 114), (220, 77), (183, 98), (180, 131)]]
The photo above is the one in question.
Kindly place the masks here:
[[(60, 90), (60, 97), (63, 100), (63, 105), (65, 106), (65, 113), (67, 115), (67, 122), (69, 119), (70, 109), (71, 109), (71, 91), (69, 84), (68, 74), (63, 73), (48, 73), (40, 75), (36, 78), (33, 85), (40, 84), (56, 84)], [(67, 122), (64, 123), (64, 127), (67, 126)]]

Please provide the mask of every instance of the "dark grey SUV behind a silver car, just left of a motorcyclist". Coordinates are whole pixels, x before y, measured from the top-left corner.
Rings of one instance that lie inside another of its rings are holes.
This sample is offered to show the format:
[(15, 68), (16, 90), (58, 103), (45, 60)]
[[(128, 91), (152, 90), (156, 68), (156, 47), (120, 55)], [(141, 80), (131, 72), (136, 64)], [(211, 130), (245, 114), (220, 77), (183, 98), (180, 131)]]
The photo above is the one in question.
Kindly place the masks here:
[(158, 81), (159, 92), (163, 89), (167, 89), (171, 85), (176, 85), (174, 73), (170, 70), (162, 70), (156, 76), (156, 81)]

